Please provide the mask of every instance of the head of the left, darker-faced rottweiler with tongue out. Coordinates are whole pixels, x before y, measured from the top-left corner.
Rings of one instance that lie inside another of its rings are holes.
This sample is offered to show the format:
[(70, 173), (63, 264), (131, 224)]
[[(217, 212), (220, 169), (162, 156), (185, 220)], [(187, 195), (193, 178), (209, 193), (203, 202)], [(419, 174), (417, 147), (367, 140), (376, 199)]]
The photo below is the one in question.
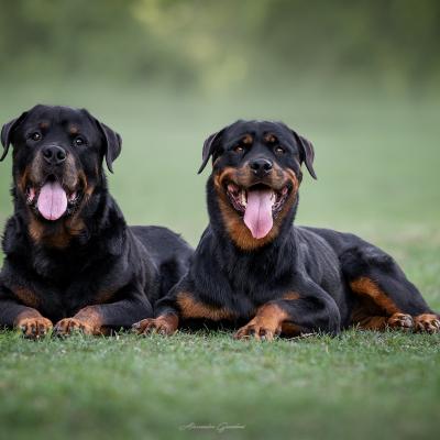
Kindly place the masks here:
[(36, 106), (4, 124), (3, 154), (13, 146), (14, 196), (41, 221), (77, 212), (105, 183), (102, 160), (112, 170), (121, 138), (87, 110)]

